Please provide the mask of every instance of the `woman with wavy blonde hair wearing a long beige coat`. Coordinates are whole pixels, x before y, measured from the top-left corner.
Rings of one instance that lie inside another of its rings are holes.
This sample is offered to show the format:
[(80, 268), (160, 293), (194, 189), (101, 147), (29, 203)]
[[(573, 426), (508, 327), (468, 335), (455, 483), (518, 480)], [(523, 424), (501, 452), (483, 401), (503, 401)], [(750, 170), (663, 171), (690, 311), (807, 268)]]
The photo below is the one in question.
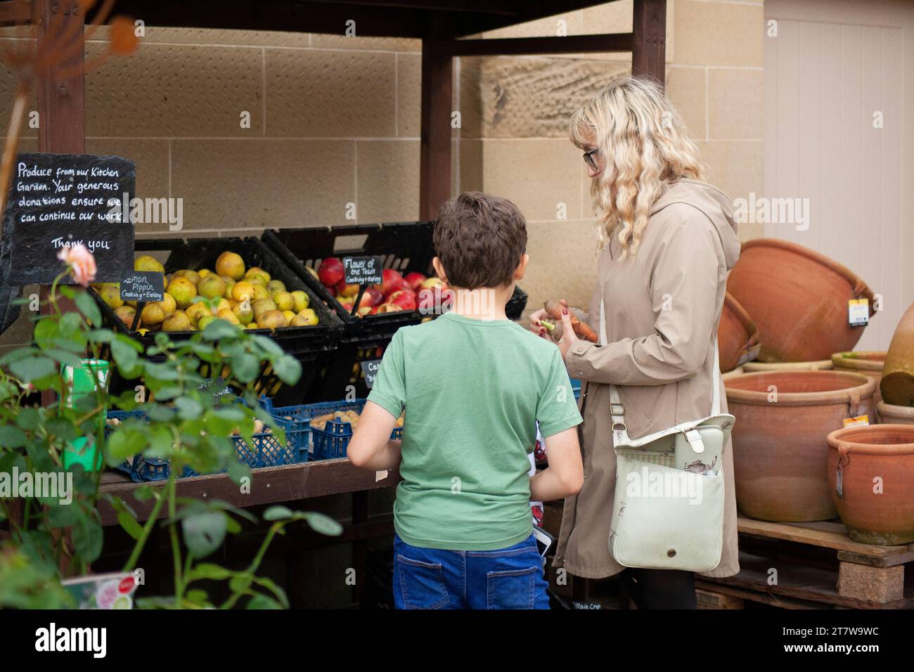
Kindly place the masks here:
[[(625, 570), (608, 546), (616, 473), (610, 386), (632, 439), (709, 414), (717, 323), (739, 239), (732, 204), (705, 182), (696, 145), (653, 82), (611, 80), (572, 115), (570, 137), (584, 151), (600, 219), (598, 285), (587, 315), (600, 343), (566, 329), (558, 344), (571, 377), (584, 382), (585, 476), (565, 501), (555, 564), (602, 579)], [(546, 337), (544, 317), (531, 315), (530, 328)], [(719, 391), (726, 412), (722, 384)], [(729, 444), (723, 475), (723, 552), (707, 572), (717, 577), (739, 571)], [(639, 608), (696, 607), (694, 572), (629, 569), (625, 578)]]

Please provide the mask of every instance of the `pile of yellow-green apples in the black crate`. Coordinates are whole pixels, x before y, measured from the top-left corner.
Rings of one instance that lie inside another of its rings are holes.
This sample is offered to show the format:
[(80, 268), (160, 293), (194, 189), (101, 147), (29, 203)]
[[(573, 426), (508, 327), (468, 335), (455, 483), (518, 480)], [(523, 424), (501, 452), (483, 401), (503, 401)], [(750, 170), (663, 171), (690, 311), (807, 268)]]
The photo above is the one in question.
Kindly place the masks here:
[[(133, 270), (165, 272), (148, 255), (138, 257)], [(137, 305), (122, 301), (120, 283), (92, 286), (124, 325), (133, 326)], [(286, 291), (285, 284), (273, 280), (270, 273), (257, 266), (246, 268), (239, 254), (225, 251), (216, 260), (215, 271), (184, 269), (165, 275), (162, 301), (143, 306), (139, 331), (197, 331), (217, 319), (244, 329), (316, 325), (317, 314), (309, 304), (307, 293)]]

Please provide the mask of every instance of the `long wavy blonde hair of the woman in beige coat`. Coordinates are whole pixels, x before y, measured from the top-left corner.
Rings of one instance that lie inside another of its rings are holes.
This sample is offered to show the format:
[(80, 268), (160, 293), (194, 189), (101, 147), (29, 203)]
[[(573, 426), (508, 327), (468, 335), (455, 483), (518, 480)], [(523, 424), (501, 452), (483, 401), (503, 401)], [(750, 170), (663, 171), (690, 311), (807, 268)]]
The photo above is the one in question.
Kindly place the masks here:
[(682, 179), (704, 181), (698, 148), (664, 92), (651, 80), (616, 77), (571, 115), (571, 142), (599, 150), (602, 169), (590, 193), (600, 218), (600, 246), (615, 237), (622, 259), (634, 257), (654, 202)]

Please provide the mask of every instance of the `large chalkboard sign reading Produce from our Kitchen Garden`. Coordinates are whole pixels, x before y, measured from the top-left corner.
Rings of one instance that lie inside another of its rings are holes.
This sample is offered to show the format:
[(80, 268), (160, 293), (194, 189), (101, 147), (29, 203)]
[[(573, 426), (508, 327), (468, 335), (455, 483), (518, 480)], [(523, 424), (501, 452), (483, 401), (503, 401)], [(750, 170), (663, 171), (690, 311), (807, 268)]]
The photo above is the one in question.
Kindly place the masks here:
[(20, 154), (4, 212), (2, 265), (9, 284), (49, 284), (62, 248), (85, 245), (97, 283), (133, 271), (136, 166), (121, 156)]

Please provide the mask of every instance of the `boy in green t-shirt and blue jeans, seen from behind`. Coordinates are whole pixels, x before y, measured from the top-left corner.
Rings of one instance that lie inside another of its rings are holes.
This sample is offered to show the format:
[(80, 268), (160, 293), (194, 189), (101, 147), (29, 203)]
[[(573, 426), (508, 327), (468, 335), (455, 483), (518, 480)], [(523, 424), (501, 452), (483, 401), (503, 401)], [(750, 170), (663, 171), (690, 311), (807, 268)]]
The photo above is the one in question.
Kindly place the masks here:
[[(581, 417), (558, 347), (505, 315), (529, 260), (526, 221), (505, 198), (463, 193), (441, 208), (434, 242), (452, 309), (393, 337), (348, 456), (399, 466), (398, 608), (547, 609), (529, 502), (580, 489)], [(537, 421), (549, 467), (530, 476)]]

